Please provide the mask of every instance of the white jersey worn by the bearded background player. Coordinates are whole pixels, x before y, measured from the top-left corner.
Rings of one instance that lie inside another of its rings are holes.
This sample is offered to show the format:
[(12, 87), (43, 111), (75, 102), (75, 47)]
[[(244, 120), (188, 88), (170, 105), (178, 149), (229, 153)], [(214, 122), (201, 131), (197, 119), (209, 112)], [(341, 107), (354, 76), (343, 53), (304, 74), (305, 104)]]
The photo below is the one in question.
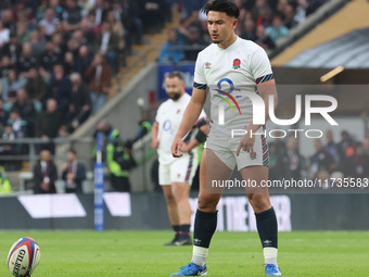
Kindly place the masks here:
[[(158, 124), (157, 139), (160, 141), (157, 154), (158, 162), (162, 164), (169, 164), (176, 159), (171, 155), (170, 147), (190, 100), (191, 97), (188, 93), (184, 93), (177, 101), (173, 101), (171, 99), (166, 100), (157, 109), (155, 117), (155, 122)], [(204, 111), (202, 111), (198, 123), (199, 121), (205, 118), (206, 114)], [(196, 151), (196, 148), (194, 148), (192, 151)]]

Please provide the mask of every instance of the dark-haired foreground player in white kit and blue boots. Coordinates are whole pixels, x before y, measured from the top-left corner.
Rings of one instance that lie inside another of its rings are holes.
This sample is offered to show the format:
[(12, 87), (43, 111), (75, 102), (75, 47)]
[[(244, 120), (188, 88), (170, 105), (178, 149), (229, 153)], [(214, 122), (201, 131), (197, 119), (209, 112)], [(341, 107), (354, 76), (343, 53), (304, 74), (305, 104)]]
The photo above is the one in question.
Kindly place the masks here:
[[(207, 14), (207, 27), (214, 43), (198, 55), (192, 98), (173, 142), (173, 155), (181, 156), (182, 137), (196, 122), (206, 93), (211, 93), (212, 124), (200, 165), (192, 261), (170, 276), (207, 275), (205, 262), (217, 226), (217, 203), (222, 193), (222, 189), (211, 190), (213, 180), (228, 180), (236, 165), (244, 180), (258, 184), (256, 189), (246, 187), (245, 192), (256, 216), (265, 275), (281, 276), (277, 264), (277, 217), (268, 189), (260, 186), (268, 179), (268, 146), (263, 135), (255, 135), (263, 134), (264, 125), (253, 121), (253, 113), (263, 105), (255, 106), (256, 101), (251, 101), (255, 97), (262, 103), (264, 101), (262, 114), (266, 119), (269, 96), (275, 100), (271, 109), (276, 108), (277, 91), (270, 62), (259, 46), (234, 34), (239, 9), (233, 1), (213, 0), (203, 10)], [(233, 137), (234, 129), (247, 130), (247, 134)]]

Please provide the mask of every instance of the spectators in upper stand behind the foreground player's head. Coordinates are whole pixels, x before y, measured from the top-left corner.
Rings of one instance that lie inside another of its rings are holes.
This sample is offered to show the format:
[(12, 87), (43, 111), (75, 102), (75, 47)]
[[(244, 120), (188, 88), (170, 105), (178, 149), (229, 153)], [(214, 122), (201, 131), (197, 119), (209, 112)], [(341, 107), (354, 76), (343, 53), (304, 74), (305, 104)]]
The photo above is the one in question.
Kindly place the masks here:
[[(326, 1), (234, 0), (240, 9), (236, 34), (258, 43), (266, 50), (273, 49), (280, 38), (288, 36), (291, 28), (303, 23)], [(206, 14), (201, 11), (206, 0), (173, 0), (171, 2), (181, 10), (181, 25), (177, 29), (169, 30), (160, 61), (193, 61), (199, 50), (212, 42), (207, 32)]]

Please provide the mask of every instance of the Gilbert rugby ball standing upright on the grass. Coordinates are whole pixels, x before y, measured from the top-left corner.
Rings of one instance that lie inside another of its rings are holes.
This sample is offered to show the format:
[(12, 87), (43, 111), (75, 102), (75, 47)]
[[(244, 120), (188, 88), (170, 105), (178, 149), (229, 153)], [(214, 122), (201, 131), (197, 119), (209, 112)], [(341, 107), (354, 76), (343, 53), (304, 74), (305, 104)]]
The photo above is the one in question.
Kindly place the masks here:
[(16, 277), (30, 276), (40, 262), (40, 248), (31, 238), (14, 242), (8, 255), (8, 268)]

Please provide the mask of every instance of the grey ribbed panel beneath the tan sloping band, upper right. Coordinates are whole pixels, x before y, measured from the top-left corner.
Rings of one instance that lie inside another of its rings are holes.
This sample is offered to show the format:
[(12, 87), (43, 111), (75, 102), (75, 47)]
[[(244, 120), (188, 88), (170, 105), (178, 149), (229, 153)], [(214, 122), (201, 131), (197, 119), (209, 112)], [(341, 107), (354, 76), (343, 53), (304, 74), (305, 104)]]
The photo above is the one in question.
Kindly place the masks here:
[(340, 38), (305, 50), (287, 66), (369, 68), (369, 28), (351, 32)]

